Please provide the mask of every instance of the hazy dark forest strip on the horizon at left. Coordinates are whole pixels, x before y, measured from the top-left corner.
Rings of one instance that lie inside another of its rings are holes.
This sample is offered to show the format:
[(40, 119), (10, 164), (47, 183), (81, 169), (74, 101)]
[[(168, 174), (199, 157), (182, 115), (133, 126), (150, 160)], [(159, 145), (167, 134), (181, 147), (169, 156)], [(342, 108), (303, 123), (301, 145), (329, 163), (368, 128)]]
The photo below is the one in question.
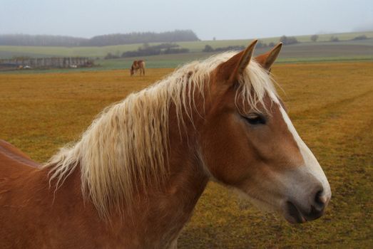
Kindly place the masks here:
[(131, 43), (172, 43), (199, 40), (198, 36), (191, 30), (175, 30), (161, 33), (113, 33), (93, 36), (92, 38), (27, 34), (0, 35), (0, 45), (2, 46), (115, 46)]

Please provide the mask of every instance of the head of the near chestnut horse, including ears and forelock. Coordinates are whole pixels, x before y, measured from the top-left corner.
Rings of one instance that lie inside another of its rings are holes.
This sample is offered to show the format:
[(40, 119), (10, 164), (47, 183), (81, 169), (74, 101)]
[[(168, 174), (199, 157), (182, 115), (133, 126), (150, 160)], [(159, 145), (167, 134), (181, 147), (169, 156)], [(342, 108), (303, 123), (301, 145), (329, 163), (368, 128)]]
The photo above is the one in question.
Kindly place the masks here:
[(257, 41), (210, 74), (200, 149), (211, 179), (290, 223), (322, 216), (331, 191), (271, 83), (282, 44), (252, 59)]

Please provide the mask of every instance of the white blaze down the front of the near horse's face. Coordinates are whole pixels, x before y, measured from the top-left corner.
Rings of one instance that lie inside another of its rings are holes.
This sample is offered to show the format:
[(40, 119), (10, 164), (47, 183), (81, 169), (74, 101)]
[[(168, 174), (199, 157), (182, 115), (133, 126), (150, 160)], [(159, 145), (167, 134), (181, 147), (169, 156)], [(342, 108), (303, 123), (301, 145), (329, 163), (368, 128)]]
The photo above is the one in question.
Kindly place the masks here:
[(305, 170), (308, 173), (312, 174), (312, 176), (315, 176), (315, 178), (321, 182), (322, 187), (324, 189), (322, 197), (326, 198), (326, 200), (329, 201), (330, 197), (332, 196), (332, 192), (330, 191), (329, 182), (327, 181), (327, 177), (325, 176), (324, 171), (322, 171), (321, 166), (315, 158), (314, 154), (312, 154), (312, 152), (307, 147), (305, 142), (303, 142), (303, 140), (300, 138), (284, 108), (282, 108), (281, 105), (279, 105), (279, 108), (282, 114), (282, 118), (287, 124), (287, 128), (294, 137), (295, 142), (297, 143), (298, 148), (300, 149), (300, 154), (302, 154), (303, 161), (305, 161), (305, 165), (302, 166), (304, 167), (304, 169), (302, 170)]

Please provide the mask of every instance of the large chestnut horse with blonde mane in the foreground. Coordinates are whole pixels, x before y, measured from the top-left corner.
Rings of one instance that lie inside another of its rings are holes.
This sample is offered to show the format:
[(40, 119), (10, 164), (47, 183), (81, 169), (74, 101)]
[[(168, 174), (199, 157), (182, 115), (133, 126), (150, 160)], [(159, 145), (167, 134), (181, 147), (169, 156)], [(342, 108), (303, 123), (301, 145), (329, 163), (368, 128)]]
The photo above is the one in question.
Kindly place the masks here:
[(282, 44), (253, 57), (256, 43), (131, 93), (45, 164), (2, 142), (0, 247), (176, 248), (208, 181), (320, 218), (329, 183), (270, 73)]

